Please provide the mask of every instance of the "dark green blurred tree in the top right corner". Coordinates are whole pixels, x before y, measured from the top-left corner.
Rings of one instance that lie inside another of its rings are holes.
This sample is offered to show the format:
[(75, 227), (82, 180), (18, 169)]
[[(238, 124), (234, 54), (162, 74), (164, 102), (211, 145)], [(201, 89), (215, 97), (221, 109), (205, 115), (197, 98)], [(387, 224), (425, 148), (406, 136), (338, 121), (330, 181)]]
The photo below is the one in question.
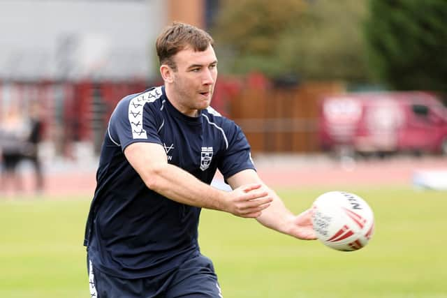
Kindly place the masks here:
[(447, 1), (370, 0), (369, 66), (393, 89), (447, 91)]

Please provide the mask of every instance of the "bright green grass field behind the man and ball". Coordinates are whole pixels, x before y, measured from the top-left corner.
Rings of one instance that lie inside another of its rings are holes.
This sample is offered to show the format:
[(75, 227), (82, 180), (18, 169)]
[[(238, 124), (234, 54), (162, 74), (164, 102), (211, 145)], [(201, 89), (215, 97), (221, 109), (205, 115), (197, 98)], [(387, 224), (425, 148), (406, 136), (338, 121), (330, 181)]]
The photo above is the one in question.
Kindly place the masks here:
[[(323, 189), (279, 191), (295, 212)], [(204, 210), (202, 251), (226, 298), (447, 297), (447, 193), (349, 189), (369, 202), (376, 232), (361, 251), (298, 241), (254, 220)], [(0, 202), (0, 297), (89, 297), (82, 247), (89, 198)]]

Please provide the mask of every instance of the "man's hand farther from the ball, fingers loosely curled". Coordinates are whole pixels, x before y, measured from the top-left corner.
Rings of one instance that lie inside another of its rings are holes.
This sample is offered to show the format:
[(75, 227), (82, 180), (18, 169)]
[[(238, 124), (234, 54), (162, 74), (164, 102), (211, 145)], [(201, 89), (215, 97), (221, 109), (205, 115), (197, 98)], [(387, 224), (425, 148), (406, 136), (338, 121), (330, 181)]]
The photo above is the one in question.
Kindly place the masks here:
[(261, 184), (247, 184), (228, 193), (223, 210), (235, 216), (256, 218), (270, 206), (273, 198)]

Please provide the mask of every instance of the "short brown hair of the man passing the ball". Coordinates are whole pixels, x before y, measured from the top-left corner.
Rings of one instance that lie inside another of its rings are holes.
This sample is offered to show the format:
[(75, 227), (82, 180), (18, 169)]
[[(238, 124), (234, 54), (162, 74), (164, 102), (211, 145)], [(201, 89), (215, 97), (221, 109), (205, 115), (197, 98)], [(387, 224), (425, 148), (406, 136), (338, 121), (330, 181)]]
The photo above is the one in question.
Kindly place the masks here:
[(177, 70), (172, 59), (175, 54), (186, 47), (191, 47), (196, 52), (203, 52), (209, 45), (214, 45), (214, 40), (207, 32), (190, 24), (173, 22), (156, 39), (156, 54), (159, 56), (160, 65), (167, 64), (173, 70)]

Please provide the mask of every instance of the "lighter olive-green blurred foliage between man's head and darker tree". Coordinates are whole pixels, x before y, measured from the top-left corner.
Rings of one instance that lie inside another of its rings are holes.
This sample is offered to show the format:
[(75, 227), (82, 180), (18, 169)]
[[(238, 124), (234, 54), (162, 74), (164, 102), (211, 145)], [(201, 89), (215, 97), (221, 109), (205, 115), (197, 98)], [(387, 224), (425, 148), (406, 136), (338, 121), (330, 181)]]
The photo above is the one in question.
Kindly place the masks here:
[(367, 80), (365, 0), (227, 0), (213, 29), (227, 71)]

